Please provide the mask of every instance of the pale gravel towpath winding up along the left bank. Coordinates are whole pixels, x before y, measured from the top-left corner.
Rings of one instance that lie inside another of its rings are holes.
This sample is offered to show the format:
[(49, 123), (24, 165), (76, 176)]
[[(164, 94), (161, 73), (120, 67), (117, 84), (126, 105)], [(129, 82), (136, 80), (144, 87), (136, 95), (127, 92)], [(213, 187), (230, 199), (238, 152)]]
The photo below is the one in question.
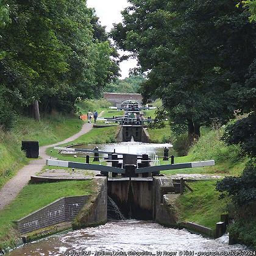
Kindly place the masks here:
[(60, 141), (52, 145), (40, 147), (39, 152), (41, 159), (30, 161), (29, 165), (21, 168), (16, 176), (9, 180), (9, 182), (7, 182), (0, 190), (0, 210), (2, 210), (5, 205), (10, 204), (10, 202), (15, 199), (18, 193), (20, 193), (23, 187), (25, 187), (29, 182), (30, 176), (35, 175), (37, 172), (41, 171), (41, 169), (45, 165), (46, 159), (48, 158), (48, 155), (46, 155), (46, 149), (76, 140), (84, 133), (89, 132), (92, 128), (93, 124), (84, 124), (80, 132), (67, 138), (66, 140)]

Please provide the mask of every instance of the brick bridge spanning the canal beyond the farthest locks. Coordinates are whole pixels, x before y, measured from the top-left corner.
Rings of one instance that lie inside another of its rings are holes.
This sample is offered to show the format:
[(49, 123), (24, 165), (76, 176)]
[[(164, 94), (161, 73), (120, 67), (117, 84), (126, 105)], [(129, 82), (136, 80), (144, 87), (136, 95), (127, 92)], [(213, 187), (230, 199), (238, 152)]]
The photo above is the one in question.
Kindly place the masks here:
[(140, 93), (104, 93), (104, 99), (110, 101), (114, 106), (120, 107), (124, 101), (137, 101), (139, 104), (142, 102)]

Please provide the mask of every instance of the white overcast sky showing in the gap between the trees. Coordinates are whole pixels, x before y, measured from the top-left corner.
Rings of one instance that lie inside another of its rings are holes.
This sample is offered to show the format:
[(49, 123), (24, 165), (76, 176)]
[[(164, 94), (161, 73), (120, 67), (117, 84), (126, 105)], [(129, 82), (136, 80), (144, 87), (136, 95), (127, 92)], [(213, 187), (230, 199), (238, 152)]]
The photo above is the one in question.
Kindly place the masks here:
[[(121, 11), (129, 4), (127, 0), (87, 0), (88, 7), (96, 10), (96, 15), (99, 17), (102, 26), (106, 26), (109, 32), (112, 29), (113, 23), (122, 21)], [(121, 54), (121, 52), (119, 52)], [(129, 76), (129, 69), (135, 68), (137, 60), (131, 59), (120, 63), (121, 78)]]

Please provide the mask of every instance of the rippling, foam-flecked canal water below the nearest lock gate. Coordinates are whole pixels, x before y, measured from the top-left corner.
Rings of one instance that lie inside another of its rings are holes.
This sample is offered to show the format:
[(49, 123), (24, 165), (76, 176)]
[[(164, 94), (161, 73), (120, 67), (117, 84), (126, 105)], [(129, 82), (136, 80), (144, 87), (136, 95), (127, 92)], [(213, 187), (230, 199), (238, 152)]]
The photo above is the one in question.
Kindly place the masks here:
[(228, 252), (241, 250), (246, 250), (246, 247), (238, 244), (230, 246), (227, 235), (212, 240), (185, 229), (170, 229), (153, 222), (129, 219), (51, 236), (20, 247), (8, 255), (201, 256), (207, 255), (206, 252), (208, 255), (214, 255), (210, 254), (213, 251), (227, 255)]

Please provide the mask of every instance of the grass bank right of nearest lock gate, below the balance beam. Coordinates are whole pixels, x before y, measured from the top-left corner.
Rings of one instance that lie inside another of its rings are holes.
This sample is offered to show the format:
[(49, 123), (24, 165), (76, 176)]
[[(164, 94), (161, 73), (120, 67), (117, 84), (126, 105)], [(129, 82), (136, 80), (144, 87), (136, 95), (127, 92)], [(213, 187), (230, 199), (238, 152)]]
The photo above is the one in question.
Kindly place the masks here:
[(191, 221), (215, 229), (221, 214), (227, 212), (227, 201), (219, 200), (216, 180), (188, 182), (194, 192), (187, 191), (177, 199), (179, 220)]

